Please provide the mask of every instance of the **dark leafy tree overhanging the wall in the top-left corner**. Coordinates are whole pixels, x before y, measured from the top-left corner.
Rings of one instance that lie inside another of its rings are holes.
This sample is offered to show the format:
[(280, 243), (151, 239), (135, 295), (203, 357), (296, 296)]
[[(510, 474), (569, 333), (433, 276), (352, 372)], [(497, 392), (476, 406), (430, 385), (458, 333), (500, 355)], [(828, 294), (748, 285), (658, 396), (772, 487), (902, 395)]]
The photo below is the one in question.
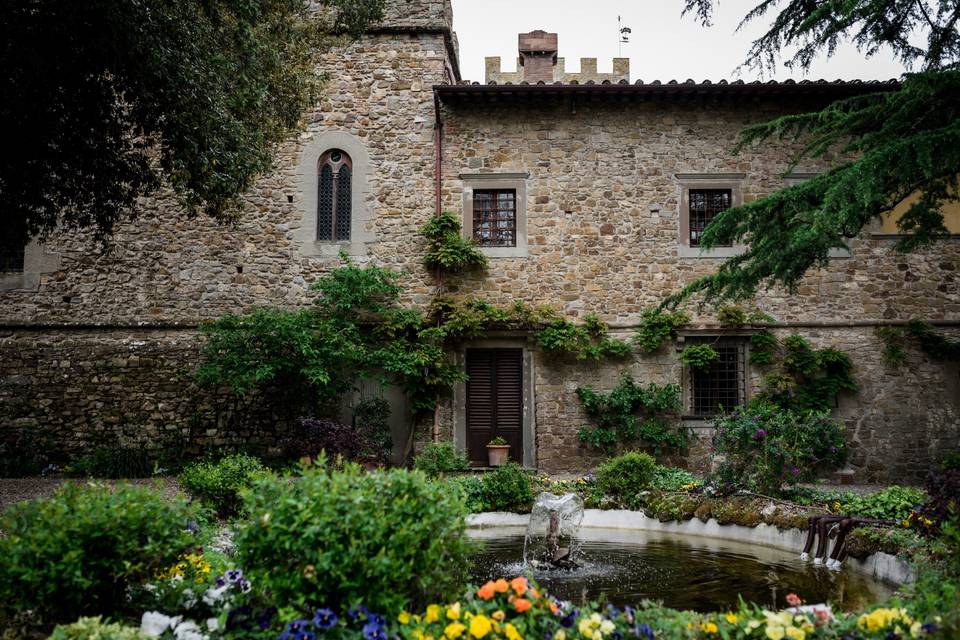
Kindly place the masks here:
[(0, 241), (101, 239), (172, 187), (218, 220), (314, 98), (318, 52), (385, 0), (5, 0)]

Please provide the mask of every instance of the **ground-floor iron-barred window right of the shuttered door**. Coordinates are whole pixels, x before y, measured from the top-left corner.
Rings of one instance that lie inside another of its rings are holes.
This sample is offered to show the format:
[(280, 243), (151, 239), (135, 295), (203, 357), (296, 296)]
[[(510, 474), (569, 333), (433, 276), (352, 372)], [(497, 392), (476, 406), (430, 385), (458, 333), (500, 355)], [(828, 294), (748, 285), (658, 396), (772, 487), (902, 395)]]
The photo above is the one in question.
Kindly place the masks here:
[(719, 356), (709, 368), (687, 367), (686, 413), (711, 418), (746, 401), (746, 340), (699, 338), (686, 344), (709, 344)]

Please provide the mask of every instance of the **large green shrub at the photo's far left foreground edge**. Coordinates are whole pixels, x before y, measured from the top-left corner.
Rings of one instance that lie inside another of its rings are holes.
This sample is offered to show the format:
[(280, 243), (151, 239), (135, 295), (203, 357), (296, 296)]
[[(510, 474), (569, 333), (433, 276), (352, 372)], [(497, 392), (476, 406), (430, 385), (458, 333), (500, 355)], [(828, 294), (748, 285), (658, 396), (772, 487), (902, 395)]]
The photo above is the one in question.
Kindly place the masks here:
[(41, 624), (123, 609), (128, 589), (194, 544), (196, 510), (147, 487), (67, 484), (0, 516), (0, 618)]

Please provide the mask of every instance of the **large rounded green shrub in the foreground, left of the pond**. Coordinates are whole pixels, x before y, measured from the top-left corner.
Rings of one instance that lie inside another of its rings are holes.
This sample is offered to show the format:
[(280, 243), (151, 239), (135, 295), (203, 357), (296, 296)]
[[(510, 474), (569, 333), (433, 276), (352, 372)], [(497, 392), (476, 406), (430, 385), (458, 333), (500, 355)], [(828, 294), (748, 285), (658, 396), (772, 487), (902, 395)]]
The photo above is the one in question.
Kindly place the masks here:
[(261, 478), (244, 499), (237, 560), (281, 609), (399, 611), (463, 587), (463, 500), (423, 473), (313, 466)]

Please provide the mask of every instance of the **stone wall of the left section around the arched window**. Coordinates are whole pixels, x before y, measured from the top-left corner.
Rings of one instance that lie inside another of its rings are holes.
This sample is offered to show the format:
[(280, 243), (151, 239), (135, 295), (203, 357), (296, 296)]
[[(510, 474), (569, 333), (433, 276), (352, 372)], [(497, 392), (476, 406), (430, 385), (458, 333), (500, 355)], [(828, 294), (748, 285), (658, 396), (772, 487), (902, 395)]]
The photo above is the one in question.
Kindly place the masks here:
[(450, 29), (449, 0), (406, 0), (381, 29), (326, 54), (322, 99), (245, 196), (235, 226), (191, 218), (160, 193), (117, 228), (108, 253), (84, 234), (48, 243), (60, 269), (35, 291), (0, 292), (0, 442), (33, 429), (71, 457), (98, 443), (273, 438), (286, 417), (269, 402), (237, 406), (191, 384), (195, 326), (309, 303), (310, 283), (340, 264), (335, 253), (306, 255), (297, 238), (297, 167), (325, 132), (353, 136), (370, 160), (370, 242), (354, 259), (405, 271), (412, 299), (425, 301), (432, 278), (410, 243), (434, 211), (432, 86), (449, 78)]

